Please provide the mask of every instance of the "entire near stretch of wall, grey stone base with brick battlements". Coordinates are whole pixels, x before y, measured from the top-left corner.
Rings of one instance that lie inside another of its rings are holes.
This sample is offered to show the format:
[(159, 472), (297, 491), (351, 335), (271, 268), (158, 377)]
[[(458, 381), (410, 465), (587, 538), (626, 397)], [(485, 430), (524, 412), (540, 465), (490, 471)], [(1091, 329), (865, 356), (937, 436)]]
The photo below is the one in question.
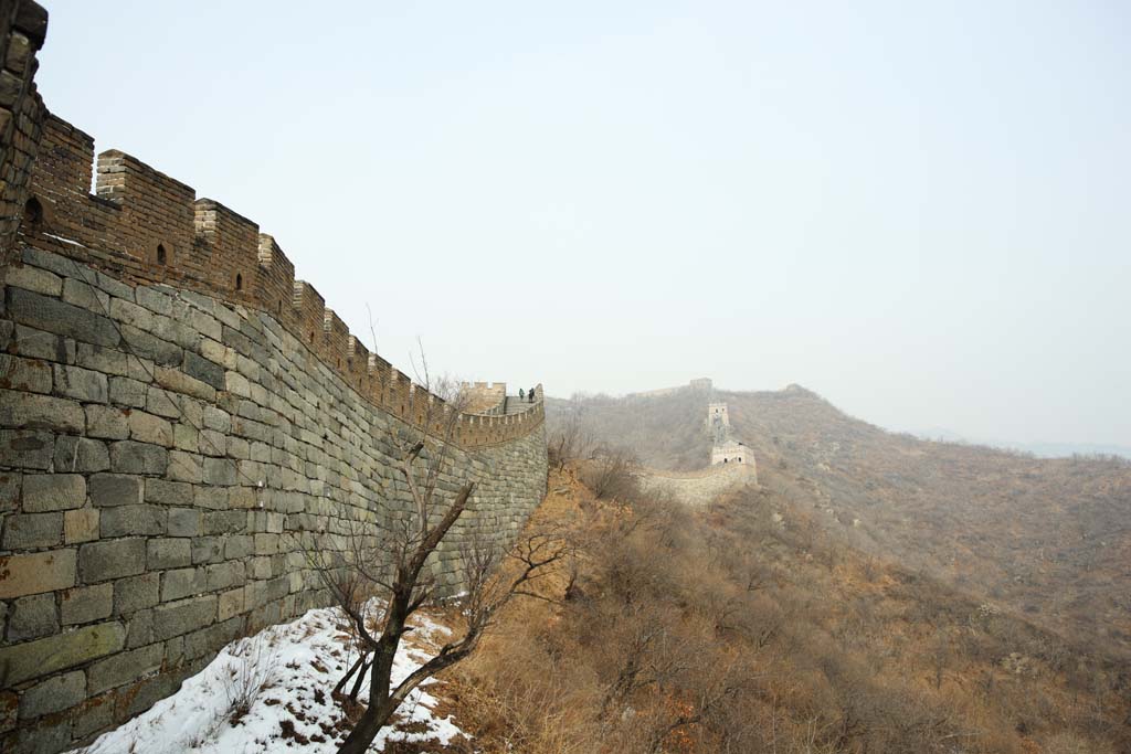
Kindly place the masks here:
[(506, 546), (545, 492), (543, 393), (414, 384), (256, 223), (48, 112), (43, 8), (0, 25), (0, 751), (50, 754), (328, 604), (300, 536), (396, 517), (405, 444), (448, 426), (439, 487), (477, 483), (431, 564), (458, 589), (459, 544)]

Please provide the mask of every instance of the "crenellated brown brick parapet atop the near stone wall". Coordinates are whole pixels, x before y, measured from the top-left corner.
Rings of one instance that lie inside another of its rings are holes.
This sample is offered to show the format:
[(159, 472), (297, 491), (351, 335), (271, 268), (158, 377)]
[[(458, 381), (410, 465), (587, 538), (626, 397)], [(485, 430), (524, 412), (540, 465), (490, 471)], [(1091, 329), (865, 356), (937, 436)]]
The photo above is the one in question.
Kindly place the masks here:
[[(266, 312), (368, 400), (422, 428), (451, 410), (370, 353), (257, 223), (124, 151), (96, 156), (92, 136), (53, 114), (43, 121), (26, 202), (37, 217), (19, 226), (27, 245), (133, 285), (162, 283)], [(543, 421), (541, 385), (520, 413), (502, 408), (506, 383), (475, 383), (470, 396), (456, 421), (463, 447), (507, 442)]]

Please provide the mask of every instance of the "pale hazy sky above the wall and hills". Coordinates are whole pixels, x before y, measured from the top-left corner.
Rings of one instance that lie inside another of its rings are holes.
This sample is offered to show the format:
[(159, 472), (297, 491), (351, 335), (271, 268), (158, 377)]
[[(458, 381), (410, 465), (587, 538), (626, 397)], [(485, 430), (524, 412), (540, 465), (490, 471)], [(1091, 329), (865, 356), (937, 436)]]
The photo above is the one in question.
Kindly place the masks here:
[(48, 106), (405, 371), (1131, 444), (1125, 3), (41, 1)]

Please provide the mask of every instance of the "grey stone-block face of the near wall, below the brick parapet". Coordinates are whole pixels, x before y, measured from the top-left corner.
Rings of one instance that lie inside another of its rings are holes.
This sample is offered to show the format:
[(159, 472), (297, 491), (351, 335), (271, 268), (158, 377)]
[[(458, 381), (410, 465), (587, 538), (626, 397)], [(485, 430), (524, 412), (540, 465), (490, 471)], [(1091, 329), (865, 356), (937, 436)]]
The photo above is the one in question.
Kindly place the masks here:
[[(269, 312), (32, 245), (0, 300), (0, 751), (88, 740), (245, 624), (327, 604), (295, 537), (342, 548), (408, 505), (414, 425)], [(405, 414), (440, 406), (390, 374)], [(478, 486), (432, 563), (449, 591), (459, 543), (509, 544), (545, 492), (521, 418), (467, 416), (450, 449), (441, 488)]]

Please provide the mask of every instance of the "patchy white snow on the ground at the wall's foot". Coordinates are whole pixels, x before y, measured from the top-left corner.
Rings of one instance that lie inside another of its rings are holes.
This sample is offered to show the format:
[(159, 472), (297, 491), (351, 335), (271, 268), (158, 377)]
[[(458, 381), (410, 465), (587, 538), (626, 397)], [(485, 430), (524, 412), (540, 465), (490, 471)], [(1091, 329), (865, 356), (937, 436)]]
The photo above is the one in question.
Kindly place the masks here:
[[(370, 609), (379, 613), (380, 607), (371, 604)], [(414, 616), (411, 625), (416, 630), (400, 643), (394, 662), (394, 683), (431, 657), (418, 644), (431, 645), (449, 633), (423, 614)], [(271, 626), (228, 644), (204, 670), (185, 679), (175, 694), (78, 752), (333, 754), (349, 728), (348, 723), (340, 730), (335, 727), (345, 714), (330, 699), (330, 692), (356, 658), (340, 612), (310, 610), (293, 623)], [(346, 684), (346, 693), (353, 681)], [(433, 713), (437, 700), (424, 690), (429, 683), (417, 687), (400, 705), (397, 725), (378, 735), (371, 752), (383, 751), (387, 740), (434, 742), (439, 747), (466, 735), (450, 718)], [(366, 678), (359, 701), (365, 701), (368, 687)], [(251, 703), (247, 714), (233, 720), (233, 702), (241, 696), (241, 690), (252, 692)], [(296, 736), (284, 735), (287, 721)], [(404, 727), (412, 731), (399, 729)]]

